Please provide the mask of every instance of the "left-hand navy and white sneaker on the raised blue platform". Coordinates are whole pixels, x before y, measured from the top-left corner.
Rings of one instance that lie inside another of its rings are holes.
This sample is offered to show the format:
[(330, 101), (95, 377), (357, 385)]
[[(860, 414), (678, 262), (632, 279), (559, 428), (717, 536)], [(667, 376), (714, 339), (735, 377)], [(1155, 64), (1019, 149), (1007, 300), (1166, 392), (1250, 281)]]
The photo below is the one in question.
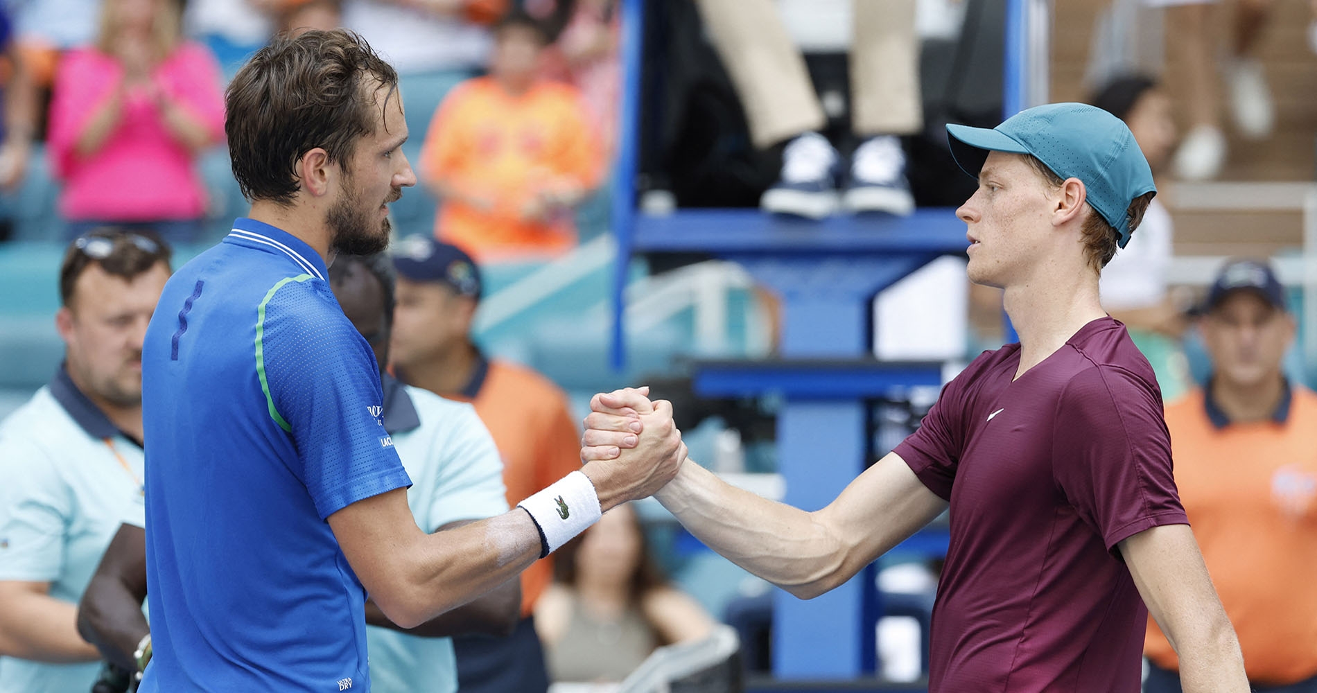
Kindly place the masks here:
[(840, 157), (827, 137), (807, 132), (782, 150), (782, 177), (764, 192), (765, 212), (823, 219), (836, 211)]

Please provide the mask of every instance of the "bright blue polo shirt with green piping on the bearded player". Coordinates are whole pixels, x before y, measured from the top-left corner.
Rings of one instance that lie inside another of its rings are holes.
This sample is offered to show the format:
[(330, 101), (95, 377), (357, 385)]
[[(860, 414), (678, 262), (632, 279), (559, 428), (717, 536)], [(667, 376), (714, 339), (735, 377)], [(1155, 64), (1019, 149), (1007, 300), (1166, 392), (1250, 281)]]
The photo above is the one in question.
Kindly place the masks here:
[(366, 596), (325, 518), (411, 482), (325, 275), (240, 219), (165, 286), (142, 346), (144, 692), (370, 690)]

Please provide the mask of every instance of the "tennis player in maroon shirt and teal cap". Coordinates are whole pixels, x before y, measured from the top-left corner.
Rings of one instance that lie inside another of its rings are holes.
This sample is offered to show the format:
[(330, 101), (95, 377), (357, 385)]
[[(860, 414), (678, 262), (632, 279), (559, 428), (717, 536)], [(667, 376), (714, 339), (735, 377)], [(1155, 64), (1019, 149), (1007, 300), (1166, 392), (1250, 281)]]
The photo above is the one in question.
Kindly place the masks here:
[[(1185, 693), (1247, 692), (1176, 494), (1156, 378), (1098, 302), (1101, 267), (1155, 194), (1143, 154), (1123, 123), (1083, 104), (948, 130), (979, 179), (956, 211), (969, 279), (1005, 290), (1019, 344), (969, 364), (914, 435), (819, 511), (698, 464), (657, 498), (707, 545), (802, 598), (950, 507), (934, 693), (1137, 693), (1148, 611), (1180, 656)], [(645, 394), (595, 397), (586, 458), (619, 455)]]

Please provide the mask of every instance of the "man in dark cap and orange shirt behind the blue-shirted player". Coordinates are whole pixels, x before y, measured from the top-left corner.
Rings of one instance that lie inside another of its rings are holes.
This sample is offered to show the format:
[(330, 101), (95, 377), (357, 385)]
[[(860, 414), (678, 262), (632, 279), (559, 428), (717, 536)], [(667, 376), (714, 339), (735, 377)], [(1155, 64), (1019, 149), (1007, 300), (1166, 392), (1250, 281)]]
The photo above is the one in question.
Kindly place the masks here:
[[(471, 402), (503, 457), (508, 497), (524, 498), (581, 468), (581, 435), (566, 395), (539, 373), (485, 358), (471, 343), (481, 274), (460, 248), (404, 240), (390, 361), (398, 379)], [(515, 501), (514, 501), (515, 502)], [(543, 693), (549, 680), (531, 617), (553, 577), (553, 557), (522, 573), (522, 621), (507, 638), (454, 638), (461, 693)]]

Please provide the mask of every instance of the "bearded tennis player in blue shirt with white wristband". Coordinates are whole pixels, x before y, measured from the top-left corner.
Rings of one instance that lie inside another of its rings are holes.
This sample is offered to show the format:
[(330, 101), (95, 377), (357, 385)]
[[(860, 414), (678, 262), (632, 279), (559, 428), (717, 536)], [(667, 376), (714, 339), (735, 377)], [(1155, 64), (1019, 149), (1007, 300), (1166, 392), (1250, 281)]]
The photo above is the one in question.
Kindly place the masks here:
[(685, 447), (660, 406), (623, 457), (423, 532), (374, 354), (325, 281), (335, 253), (385, 248), (416, 182), (396, 74), (356, 34), (307, 32), (258, 51), (225, 105), (250, 219), (170, 279), (142, 348), (141, 690), (369, 690), (367, 594), (423, 623), (661, 487)]

